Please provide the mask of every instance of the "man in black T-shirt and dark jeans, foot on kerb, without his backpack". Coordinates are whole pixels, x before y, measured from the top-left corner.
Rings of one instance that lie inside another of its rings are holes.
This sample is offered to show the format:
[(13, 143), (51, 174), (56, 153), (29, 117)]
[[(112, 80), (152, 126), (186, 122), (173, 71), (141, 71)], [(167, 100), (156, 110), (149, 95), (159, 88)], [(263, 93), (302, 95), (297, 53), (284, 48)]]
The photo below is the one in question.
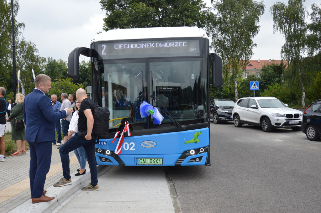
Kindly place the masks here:
[(70, 168), (69, 168), (69, 152), (81, 146), (85, 149), (88, 157), (88, 165), (91, 174), (91, 183), (86, 187), (82, 187), (83, 191), (98, 191), (97, 166), (95, 161), (94, 141), (92, 137), (94, 125), (94, 110), (96, 104), (87, 97), (84, 89), (77, 89), (76, 98), (81, 102), (78, 119), (78, 131), (73, 137), (66, 141), (59, 149), (62, 163), (63, 177), (54, 184), (55, 187), (71, 184)]

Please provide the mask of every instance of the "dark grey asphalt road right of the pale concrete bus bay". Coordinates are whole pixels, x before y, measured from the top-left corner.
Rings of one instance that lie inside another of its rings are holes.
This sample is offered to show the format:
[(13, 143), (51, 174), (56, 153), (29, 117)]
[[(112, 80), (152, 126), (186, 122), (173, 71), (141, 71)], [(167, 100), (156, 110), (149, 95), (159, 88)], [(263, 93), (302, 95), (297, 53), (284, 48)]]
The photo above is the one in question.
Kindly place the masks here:
[(321, 141), (211, 122), (212, 166), (167, 167), (189, 212), (321, 212)]

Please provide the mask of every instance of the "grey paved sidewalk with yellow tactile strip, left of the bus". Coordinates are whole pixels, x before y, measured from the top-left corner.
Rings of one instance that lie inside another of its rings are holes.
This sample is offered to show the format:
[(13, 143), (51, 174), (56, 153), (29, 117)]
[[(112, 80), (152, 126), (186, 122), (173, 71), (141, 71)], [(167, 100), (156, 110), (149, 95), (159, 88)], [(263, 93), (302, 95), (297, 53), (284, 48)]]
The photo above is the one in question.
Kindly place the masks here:
[[(48, 189), (50, 186), (52, 186), (62, 177), (62, 166), (61, 166), (61, 160), (60, 160), (60, 155), (58, 151), (59, 150), (56, 148), (56, 146), (52, 146), (51, 166), (47, 174), (47, 179), (46, 179), (44, 189)], [(78, 160), (74, 155), (74, 152), (70, 152), (69, 156), (70, 156), (70, 171), (72, 173), (77, 173), (76, 169), (80, 167)], [(6, 157), (5, 160), (6, 160), (5, 162), (0, 162), (0, 179), (1, 179), (0, 212), (1, 213), (7, 213), (28, 200), (30, 200), (30, 203), (31, 203), (30, 180), (29, 180), (30, 151), (28, 150), (25, 155)], [(107, 169), (105, 166), (102, 166), (102, 167)], [(78, 177), (85, 178), (84, 176), (86, 176), (84, 181), (88, 181), (88, 183), (90, 183), (90, 172), (89, 172), (88, 164), (86, 165), (86, 169), (88, 170), (88, 175), (86, 172), (85, 175), (81, 175)], [(73, 182), (74, 182), (74, 179), (76, 179), (74, 177), (72, 179)], [(20, 212), (26, 212), (26, 209)]]

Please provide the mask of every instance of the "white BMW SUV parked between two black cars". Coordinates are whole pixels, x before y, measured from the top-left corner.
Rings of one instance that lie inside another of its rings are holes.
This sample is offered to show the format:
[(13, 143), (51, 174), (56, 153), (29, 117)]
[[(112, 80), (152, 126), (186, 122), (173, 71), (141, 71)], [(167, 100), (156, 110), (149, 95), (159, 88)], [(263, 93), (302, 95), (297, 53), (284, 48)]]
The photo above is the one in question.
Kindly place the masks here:
[(274, 97), (240, 98), (232, 110), (234, 126), (243, 124), (261, 126), (264, 132), (291, 127), (301, 130), (303, 112), (291, 109)]

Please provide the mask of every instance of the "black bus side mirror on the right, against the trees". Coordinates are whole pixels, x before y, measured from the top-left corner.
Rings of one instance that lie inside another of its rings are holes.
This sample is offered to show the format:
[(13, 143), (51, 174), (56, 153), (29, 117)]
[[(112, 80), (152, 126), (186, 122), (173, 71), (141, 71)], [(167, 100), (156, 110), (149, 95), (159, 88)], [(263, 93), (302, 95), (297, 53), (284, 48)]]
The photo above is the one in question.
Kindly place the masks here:
[(216, 53), (211, 53), (210, 61), (212, 62), (212, 87), (220, 87), (223, 84), (222, 58)]

